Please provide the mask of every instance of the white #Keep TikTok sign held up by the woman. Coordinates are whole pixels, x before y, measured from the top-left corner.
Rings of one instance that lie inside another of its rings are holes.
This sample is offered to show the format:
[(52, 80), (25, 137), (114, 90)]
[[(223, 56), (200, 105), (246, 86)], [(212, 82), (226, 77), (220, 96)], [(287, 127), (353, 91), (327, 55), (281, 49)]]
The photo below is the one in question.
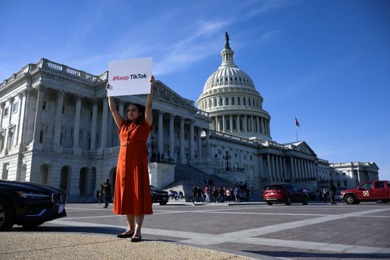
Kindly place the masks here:
[(150, 93), (153, 58), (110, 61), (107, 96)]

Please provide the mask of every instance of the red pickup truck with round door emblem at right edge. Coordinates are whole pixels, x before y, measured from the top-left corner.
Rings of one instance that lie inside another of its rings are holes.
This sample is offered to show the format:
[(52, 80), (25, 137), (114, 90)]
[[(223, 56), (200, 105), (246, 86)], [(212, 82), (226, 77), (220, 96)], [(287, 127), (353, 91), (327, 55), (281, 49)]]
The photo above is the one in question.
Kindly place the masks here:
[(390, 201), (390, 181), (374, 180), (362, 183), (358, 188), (341, 192), (340, 199), (346, 204), (359, 204), (361, 201)]

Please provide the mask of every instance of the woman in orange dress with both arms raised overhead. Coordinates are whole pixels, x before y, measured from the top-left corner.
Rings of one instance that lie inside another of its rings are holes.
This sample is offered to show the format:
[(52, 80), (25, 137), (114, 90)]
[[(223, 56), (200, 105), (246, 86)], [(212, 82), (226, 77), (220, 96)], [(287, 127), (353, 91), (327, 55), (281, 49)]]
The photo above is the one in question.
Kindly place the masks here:
[[(116, 167), (115, 199), (113, 212), (126, 215), (128, 230), (119, 238), (141, 241), (141, 227), (145, 214), (153, 214), (150, 203), (149, 173), (147, 168), (148, 147), (146, 140), (152, 129), (152, 99), (154, 77), (150, 76), (150, 94), (146, 107), (130, 104), (127, 120), (116, 110), (113, 97), (108, 104), (116, 125), (119, 127), (121, 149)], [(107, 84), (106, 88), (109, 88)]]

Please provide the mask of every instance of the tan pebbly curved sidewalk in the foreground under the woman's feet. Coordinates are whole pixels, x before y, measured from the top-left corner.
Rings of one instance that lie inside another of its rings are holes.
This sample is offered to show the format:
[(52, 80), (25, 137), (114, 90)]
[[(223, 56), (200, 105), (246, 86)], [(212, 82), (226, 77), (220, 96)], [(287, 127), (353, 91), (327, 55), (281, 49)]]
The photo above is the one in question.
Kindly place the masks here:
[(88, 234), (4, 232), (0, 259), (253, 259), (175, 243)]

